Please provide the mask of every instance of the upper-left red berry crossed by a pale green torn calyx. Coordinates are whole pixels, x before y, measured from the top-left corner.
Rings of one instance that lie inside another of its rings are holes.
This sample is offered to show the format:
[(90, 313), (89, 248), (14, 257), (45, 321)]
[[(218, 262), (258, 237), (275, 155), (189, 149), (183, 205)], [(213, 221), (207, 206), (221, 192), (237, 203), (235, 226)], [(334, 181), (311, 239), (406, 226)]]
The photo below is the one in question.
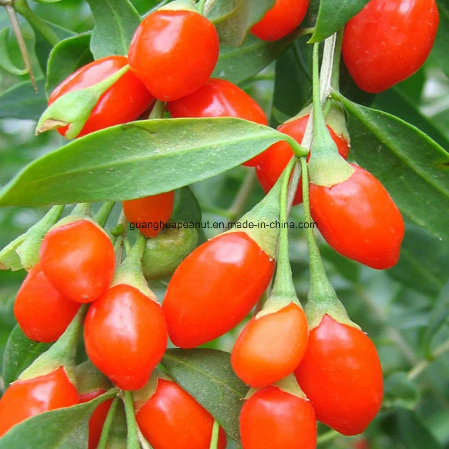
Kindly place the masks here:
[[(53, 90), (48, 99), (48, 105), (68, 92), (89, 88), (109, 78), (127, 64), (128, 60), (124, 56), (107, 56), (81, 67)], [(153, 102), (154, 97), (144, 84), (131, 70), (128, 70), (101, 96), (78, 137), (120, 123), (132, 122)], [(66, 131), (66, 126), (57, 129), (62, 136), (66, 134)]]

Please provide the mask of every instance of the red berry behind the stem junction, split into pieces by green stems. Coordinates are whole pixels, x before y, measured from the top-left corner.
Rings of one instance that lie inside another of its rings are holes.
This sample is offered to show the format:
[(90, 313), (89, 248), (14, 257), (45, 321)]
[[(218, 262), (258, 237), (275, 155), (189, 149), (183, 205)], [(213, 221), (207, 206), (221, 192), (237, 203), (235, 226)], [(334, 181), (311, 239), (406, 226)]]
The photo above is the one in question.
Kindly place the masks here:
[[(309, 115), (307, 114), (299, 119), (284, 123), (279, 126), (277, 130), (293, 137), (295, 141), (300, 144), (306, 131), (308, 117)], [(327, 129), (338, 147), (340, 156), (347, 159), (349, 154), (348, 142), (343, 136), (337, 136), (330, 126), (328, 126)], [(266, 194), (271, 190), (279, 176), (281, 176), (293, 155), (293, 150), (286, 141), (276, 142), (260, 155), (263, 158), (259, 165), (257, 165), (255, 172), (257, 179)], [(301, 180), (299, 180), (298, 186), (299, 187), (296, 190), (296, 195), (293, 202), (294, 205), (303, 201)]]

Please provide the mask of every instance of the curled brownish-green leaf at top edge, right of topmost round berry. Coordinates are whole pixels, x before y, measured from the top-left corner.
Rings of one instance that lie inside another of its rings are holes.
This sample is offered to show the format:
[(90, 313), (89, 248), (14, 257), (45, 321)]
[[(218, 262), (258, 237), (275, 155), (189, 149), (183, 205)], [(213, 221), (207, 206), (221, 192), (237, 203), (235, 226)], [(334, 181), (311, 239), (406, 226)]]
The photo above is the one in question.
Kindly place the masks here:
[(206, 17), (214, 22), (220, 42), (240, 47), (251, 26), (259, 22), (275, 0), (217, 0), (206, 11)]

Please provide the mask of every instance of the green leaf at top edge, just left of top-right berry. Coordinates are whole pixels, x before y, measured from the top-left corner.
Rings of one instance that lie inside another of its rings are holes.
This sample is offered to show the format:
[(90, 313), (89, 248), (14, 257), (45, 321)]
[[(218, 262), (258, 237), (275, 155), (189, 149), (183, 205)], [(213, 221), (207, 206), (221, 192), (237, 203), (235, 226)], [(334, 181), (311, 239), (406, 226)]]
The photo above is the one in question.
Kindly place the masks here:
[(321, 42), (339, 31), (346, 22), (360, 12), (369, 0), (321, 0), (315, 31), (310, 43)]

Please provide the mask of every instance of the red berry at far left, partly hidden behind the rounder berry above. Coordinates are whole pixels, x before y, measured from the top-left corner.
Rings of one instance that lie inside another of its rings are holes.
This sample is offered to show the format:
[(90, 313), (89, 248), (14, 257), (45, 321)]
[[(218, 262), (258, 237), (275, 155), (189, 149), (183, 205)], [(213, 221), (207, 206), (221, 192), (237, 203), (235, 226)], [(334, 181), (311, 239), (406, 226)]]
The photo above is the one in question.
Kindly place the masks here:
[(51, 343), (63, 334), (80, 305), (59, 293), (37, 264), (17, 293), (14, 317), (27, 338)]

